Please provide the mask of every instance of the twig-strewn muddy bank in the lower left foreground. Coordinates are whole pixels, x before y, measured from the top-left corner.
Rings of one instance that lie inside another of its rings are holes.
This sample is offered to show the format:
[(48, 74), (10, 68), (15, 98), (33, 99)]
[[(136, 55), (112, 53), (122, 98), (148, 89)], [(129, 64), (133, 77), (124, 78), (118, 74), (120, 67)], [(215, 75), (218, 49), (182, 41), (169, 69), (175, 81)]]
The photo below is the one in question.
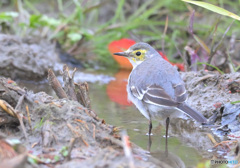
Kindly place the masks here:
[[(19, 123), (13, 125), (8, 120), (11, 126), (6, 122), (0, 123), (2, 137), (19, 139), (29, 152), (28, 158), (35, 161), (35, 164), (30, 164), (25, 159), (19, 165), (129, 167), (130, 161), (125, 155), (117, 129), (99, 119), (89, 108), (68, 98), (54, 99), (44, 92), (34, 94), (5, 78), (0, 80), (0, 90), (1, 100), (6, 101), (13, 109), (17, 106), (14, 111), (18, 117), (22, 116), (26, 131), (24, 133), (22, 127), (17, 127)], [(6, 121), (6, 111), (1, 109), (0, 114), (0, 121)], [(0, 141), (0, 147), (1, 145)], [(133, 164), (136, 167), (164, 165), (134, 144), (132, 149)]]

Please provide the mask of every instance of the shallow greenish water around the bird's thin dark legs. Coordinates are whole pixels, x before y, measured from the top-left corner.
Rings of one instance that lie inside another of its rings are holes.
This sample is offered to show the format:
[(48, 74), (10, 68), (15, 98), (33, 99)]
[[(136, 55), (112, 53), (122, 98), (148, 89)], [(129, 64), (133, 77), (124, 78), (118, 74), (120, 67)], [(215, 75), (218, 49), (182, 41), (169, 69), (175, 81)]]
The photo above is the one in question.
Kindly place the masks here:
[[(124, 106), (112, 102), (106, 93), (105, 85), (90, 84), (90, 89), (92, 108), (97, 112), (99, 117), (103, 118), (109, 124), (126, 129), (130, 140), (147, 150), (148, 136), (146, 136), (146, 133), (148, 131), (148, 120), (141, 115), (135, 106)], [(164, 153), (164, 135), (165, 126), (154, 121), (151, 153), (156, 158)], [(172, 137), (171, 135), (168, 140), (169, 153), (174, 153), (176, 158), (182, 160), (186, 167), (198, 167), (200, 164), (205, 165), (207, 160), (195, 148), (182, 144), (177, 137)]]

